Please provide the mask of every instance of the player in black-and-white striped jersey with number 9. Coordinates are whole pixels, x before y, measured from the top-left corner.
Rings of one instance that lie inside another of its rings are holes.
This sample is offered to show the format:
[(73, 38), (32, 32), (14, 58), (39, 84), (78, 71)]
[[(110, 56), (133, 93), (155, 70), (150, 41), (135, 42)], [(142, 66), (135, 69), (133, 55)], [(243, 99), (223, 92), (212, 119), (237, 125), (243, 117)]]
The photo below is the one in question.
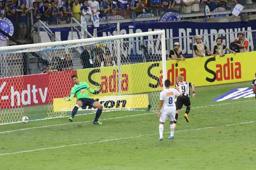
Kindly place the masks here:
[(190, 88), (192, 88), (193, 90), (192, 96), (193, 98), (195, 98), (195, 84), (191, 82), (183, 81), (183, 77), (180, 75), (177, 76), (176, 82), (177, 84), (175, 87), (176, 89), (178, 88), (180, 90), (180, 93), (182, 93), (182, 97), (177, 97), (177, 101), (176, 101), (176, 115), (175, 115), (176, 121), (174, 121), (175, 127), (178, 120), (178, 114), (180, 113), (180, 109), (182, 108), (183, 104), (187, 107), (186, 112), (184, 114), (184, 118), (186, 119), (187, 122), (189, 122), (188, 113), (190, 111), (190, 99), (189, 99)]

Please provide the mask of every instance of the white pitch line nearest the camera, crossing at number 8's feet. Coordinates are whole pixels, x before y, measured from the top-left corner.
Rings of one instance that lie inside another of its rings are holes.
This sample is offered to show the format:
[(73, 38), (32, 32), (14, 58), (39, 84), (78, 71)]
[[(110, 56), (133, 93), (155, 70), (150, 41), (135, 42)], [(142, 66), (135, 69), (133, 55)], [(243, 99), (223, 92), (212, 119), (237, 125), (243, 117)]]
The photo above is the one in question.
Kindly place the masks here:
[[(187, 131), (198, 131), (198, 130), (212, 129), (212, 128), (221, 128), (221, 127), (235, 126), (235, 125), (239, 125), (239, 124), (248, 124), (248, 123), (254, 123), (254, 122), (256, 122), (256, 121), (240, 122), (240, 123), (226, 124), (226, 125), (221, 125), (221, 126), (209, 126), (209, 127), (197, 128), (197, 129), (178, 130), (175, 133), (187, 132)], [(170, 133), (170, 132), (165, 132), (165, 133)], [(122, 137), (122, 138), (115, 138), (115, 139), (107, 139), (107, 140), (103, 140), (103, 141), (95, 141), (95, 142), (90, 142), (90, 143), (77, 143), (77, 144), (69, 144), (69, 145), (62, 145), (62, 146), (54, 146), (54, 147), (49, 147), (49, 148), (40, 148), (40, 149), (33, 149), (33, 150), (24, 150), (24, 151), (19, 151), (19, 152), (10, 152), (10, 153), (5, 153), (5, 154), (0, 154), (0, 156), (22, 154), (22, 153), (26, 153), (26, 152), (34, 152), (34, 151), (40, 151), (40, 150), (58, 149), (58, 148), (65, 148), (65, 147), (86, 145), (86, 144), (104, 143), (104, 142), (109, 142), (109, 141), (119, 141), (119, 140), (123, 140), (123, 139), (133, 139), (133, 138), (152, 136), (152, 135), (158, 135), (158, 133), (151, 133), (151, 134), (147, 134), (147, 135), (138, 135), (138, 136), (131, 136), (131, 137)]]

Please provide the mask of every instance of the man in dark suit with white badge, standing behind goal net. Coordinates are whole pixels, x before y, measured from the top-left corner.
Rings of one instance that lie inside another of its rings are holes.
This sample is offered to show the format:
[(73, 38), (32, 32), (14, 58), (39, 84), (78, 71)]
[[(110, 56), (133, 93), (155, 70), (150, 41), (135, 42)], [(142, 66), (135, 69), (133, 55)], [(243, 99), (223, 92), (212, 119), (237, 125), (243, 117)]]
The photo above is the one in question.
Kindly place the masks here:
[(93, 51), (90, 49), (90, 45), (85, 46), (85, 50), (80, 55), (80, 63), (84, 68), (93, 68)]

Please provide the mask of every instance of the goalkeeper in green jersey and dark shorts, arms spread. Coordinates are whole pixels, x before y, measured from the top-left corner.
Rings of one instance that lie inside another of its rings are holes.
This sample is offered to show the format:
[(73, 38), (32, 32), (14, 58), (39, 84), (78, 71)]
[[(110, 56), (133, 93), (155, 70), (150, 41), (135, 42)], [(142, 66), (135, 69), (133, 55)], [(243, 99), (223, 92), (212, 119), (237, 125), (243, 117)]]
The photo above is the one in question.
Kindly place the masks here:
[(95, 93), (100, 91), (100, 87), (91, 89), (86, 82), (80, 82), (77, 75), (72, 75), (71, 78), (75, 85), (71, 88), (70, 97), (64, 97), (64, 101), (71, 101), (74, 98), (74, 95), (76, 95), (77, 101), (74, 109), (72, 110), (72, 114), (69, 117), (69, 121), (73, 122), (74, 116), (76, 115), (78, 108), (85, 108), (86, 106), (91, 106), (94, 108), (98, 108), (93, 124), (102, 124), (102, 122), (98, 121), (98, 119), (102, 113), (103, 106), (88, 95), (88, 91), (90, 93)]

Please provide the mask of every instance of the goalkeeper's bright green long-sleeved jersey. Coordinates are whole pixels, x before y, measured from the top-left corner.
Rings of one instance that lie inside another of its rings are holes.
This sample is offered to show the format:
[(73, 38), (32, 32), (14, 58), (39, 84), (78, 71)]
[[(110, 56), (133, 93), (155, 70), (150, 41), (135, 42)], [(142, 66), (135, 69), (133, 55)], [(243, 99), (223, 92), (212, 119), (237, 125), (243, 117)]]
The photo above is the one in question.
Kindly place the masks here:
[(74, 95), (76, 95), (77, 99), (81, 98), (89, 98), (91, 97), (88, 95), (88, 92), (95, 93), (95, 90), (91, 89), (90, 86), (86, 82), (80, 82), (80, 84), (75, 84), (71, 88), (71, 94), (70, 94), (70, 101), (74, 98)]

